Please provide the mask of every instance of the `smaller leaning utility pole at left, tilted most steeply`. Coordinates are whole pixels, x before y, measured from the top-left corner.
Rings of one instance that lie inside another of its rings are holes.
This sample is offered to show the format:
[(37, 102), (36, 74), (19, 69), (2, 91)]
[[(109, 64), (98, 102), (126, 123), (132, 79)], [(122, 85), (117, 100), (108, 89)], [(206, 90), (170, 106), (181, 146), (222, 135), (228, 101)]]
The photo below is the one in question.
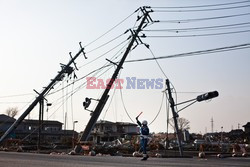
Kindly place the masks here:
[(1, 139), (0, 139), (0, 143), (2, 143), (2, 142), (5, 140), (5, 138), (6, 138), (12, 131), (14, 131), (14, 130), (17, 128), (17, 126), (18, 126), (18, 125), (24, 120), (24, 118), (33, 110), (33, 108), (34, 108), (39, 102), (41, 102), (41, 101), (44, 99), (44, 97), (47, 95), (47, 93), (49, 93), (49, 91), (53, 88), (53, 86), (54, 86), (57, 82), (61, 81), (61, 80), (64, 78), (65, 74), (70, 75), (70, 74), (74, 71), (73, 67), (70, 66), (72, 63), (75, 65), (75, 69), (77, 69), (76, 64), (75, 64), (74, 61), (76, 60), (76, 58), (77, 58), (81, 53), (83, 53), (84, 57), (86, 58), (85, 53), (84, 53), (84, 48), (82, 47), (81, 42), (80, 42), (79, 44), (80, 44), (80, 48), (81, 48), (80, 51), (79, 51), (74, 57), (72, 57), (72, 56), (70, 55), (71, 60), (68, 62), (67, 65), (61, 64), (62, 70), (61, 70), (60, 72), (58, 72), (58, 74), (56, 75), (56, 77), (55, 77), (54, 79), (51, 80), (50, 84), (49, 84), (47, 87), (45, 87), (44, 90), (43, 90), (40, 94), (38, 94), (38, 97), (31, 103), (31, 105), (24, 111), (24, 113), (23, 113), (23, 114), (22, 114), (22, 115), (21, 115), (12, 125), (11, 125), (11, 127), (4, 133), (4, 135), (3, 135), (3, 136), (1, 137)]

